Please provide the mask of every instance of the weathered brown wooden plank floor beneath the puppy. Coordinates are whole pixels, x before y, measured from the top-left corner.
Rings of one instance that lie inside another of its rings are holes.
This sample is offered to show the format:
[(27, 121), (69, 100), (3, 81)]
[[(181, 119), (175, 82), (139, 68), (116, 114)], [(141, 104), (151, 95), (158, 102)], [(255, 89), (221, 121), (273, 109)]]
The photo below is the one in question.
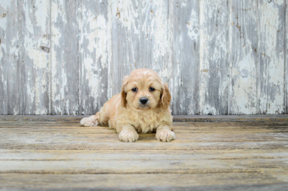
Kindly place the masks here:
[(0, 116), (0, 190), (288, 190), (288, 116), (175, 116), (118, 140), (83, 116)]

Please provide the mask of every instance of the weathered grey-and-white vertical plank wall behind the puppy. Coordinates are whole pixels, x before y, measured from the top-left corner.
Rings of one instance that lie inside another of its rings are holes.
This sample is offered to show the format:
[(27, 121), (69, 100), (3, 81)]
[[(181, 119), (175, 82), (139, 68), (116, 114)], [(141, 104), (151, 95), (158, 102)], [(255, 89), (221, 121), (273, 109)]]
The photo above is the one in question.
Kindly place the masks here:
[(95, 114), (136, 68), (173, 114), (288, 111), (286, 0), (1, 0), (0, 114)]

